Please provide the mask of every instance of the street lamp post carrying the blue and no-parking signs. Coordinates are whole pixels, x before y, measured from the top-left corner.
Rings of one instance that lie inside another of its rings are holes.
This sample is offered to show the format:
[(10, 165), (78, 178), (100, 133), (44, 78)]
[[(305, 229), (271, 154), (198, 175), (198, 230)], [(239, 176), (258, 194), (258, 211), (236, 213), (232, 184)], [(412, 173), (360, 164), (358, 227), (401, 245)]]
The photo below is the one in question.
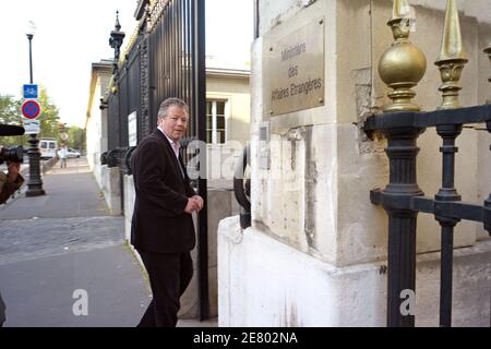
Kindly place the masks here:
[[(33, 22), (29, 21), (27, 26), (26, 36), (29, 40), (29, 82), (33, 84), (33, 37), (36, 33), (36, 26)], [(27, 191), (25, 193), (26, 196), (39, 196), (45, 195), (46, 192), (43, 189), (43, 180), (40, 178), (39, 171), (39, 159), (40, 152), (38, 148), (39, 140), (37, 139), (37, 134), (31, 134), (29, 140), (27, 141), (31, 144), (31, 147), (27, 152), (29, 157), (29, 180), (27, 182)]]

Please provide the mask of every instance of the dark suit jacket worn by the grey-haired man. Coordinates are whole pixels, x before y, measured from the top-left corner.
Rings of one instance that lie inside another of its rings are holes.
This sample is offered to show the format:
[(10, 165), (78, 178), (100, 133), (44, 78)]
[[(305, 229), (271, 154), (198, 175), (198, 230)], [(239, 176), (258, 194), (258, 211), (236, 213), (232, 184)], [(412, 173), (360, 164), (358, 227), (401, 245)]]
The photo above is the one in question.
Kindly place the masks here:
[(188, 197), (196, 193), (164, 133), (156, 130), (145, 137), (131, 161), (136, 192), (131, 243), (136, 250), (156, 253), (192, 250), (194, 225), (184, 208)]

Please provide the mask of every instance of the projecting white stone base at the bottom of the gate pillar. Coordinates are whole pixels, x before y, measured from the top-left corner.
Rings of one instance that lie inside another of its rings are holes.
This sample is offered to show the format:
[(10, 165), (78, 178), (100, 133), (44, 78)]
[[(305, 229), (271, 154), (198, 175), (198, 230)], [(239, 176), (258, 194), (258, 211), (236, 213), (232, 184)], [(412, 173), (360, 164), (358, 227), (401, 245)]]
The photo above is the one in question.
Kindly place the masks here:
[[(440, 255), (417, 261), (416, 325), (439, 326)], [(335, 267), (263, 230), (218, 229), (218, 325), (223, 327), (385, 326), (385, 262)], [(456, 251), (453, 326), (490, 324), (491, 241)], [(482, 291), (486, 290), (486, 291)]]

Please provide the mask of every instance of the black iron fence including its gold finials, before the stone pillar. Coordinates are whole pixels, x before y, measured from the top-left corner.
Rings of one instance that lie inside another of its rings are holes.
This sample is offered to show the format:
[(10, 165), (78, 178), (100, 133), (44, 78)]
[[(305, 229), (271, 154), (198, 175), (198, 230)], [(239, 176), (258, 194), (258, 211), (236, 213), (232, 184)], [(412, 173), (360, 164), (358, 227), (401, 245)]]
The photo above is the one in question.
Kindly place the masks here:
[[(388, 215), (387, 325), (415, 326), (412, 310), (403, 309), (406, 300), (416, 300), (416, 225), (419, 213), (431, 214), (441, 226), (440, 326), (452, 325), (452, 286), (454, 228), (460, 220), (483, 224), (491, 232), (491, 195), (482, 205), (465, 203), (455, 189), (455, 146), (464, 125), (486, 123), (491, 132), (491, 106), (462, 108), (458, 96), (465, 64), (457, 2), (447, 0), (442, 46), (435, 65), (442, 80), (439, 91), (442, 104), (436, 111), (419, 112), (412, 103), (411, 89), (427, 69), (424, 53), (409, 40), (415, 22), (408, 11), (409, 1), (394, 1), (387, 25), (394, 43), (382, 55), (379, 73), (392, 89), (392, 101), (384, 113), (369, 118), (363, 128), (370, 136), (374, 131), (387, 139), (390, 183), (370, 194), (372, 203), (382, 205)], [(491, 52), (486, 49), (484, 52)], [(489, 53), (488, 53), (489, 55)], [(490, 56), (491, 58), (491, 56)], [(442, 139), (442, 184), (433, 197), (424, 196), (417, 181), (417, 139), (428, 128), (435, 128)]]

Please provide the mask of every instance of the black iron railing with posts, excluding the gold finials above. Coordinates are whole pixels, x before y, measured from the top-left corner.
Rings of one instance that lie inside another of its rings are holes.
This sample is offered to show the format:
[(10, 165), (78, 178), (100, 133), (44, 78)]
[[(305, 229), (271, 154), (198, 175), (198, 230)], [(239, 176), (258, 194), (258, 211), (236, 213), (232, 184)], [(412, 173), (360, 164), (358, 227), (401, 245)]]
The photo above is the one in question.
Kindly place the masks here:
[[(432, 112), (393, 112), (374, 116), (364, 123), (372, 135), (382, 132), (387, 137), (390, 183), (384, 190), (373, 190), (370, 200), (382, 205), (388, 215), (388, 290), (387, 325), (414, 326), (415, 315), (400, 312), (402, 293), (416, 289), (416, 225), (418, 213), (434, 215), (442, 226), (440, 325), (452, 324), (453, 232), (460, 220), (483, 224), (491, 233), (491, 195), (482, 205), (462, 201), (454, 188), (455, 140), (465, 124), (486, 123), (491, 132), (491, 105), (436, 110)], [(435, 128), (442, 137), (442, 188), (434, 197), (424, 196), (417, 182), (416, 157), (418, 136)]]

